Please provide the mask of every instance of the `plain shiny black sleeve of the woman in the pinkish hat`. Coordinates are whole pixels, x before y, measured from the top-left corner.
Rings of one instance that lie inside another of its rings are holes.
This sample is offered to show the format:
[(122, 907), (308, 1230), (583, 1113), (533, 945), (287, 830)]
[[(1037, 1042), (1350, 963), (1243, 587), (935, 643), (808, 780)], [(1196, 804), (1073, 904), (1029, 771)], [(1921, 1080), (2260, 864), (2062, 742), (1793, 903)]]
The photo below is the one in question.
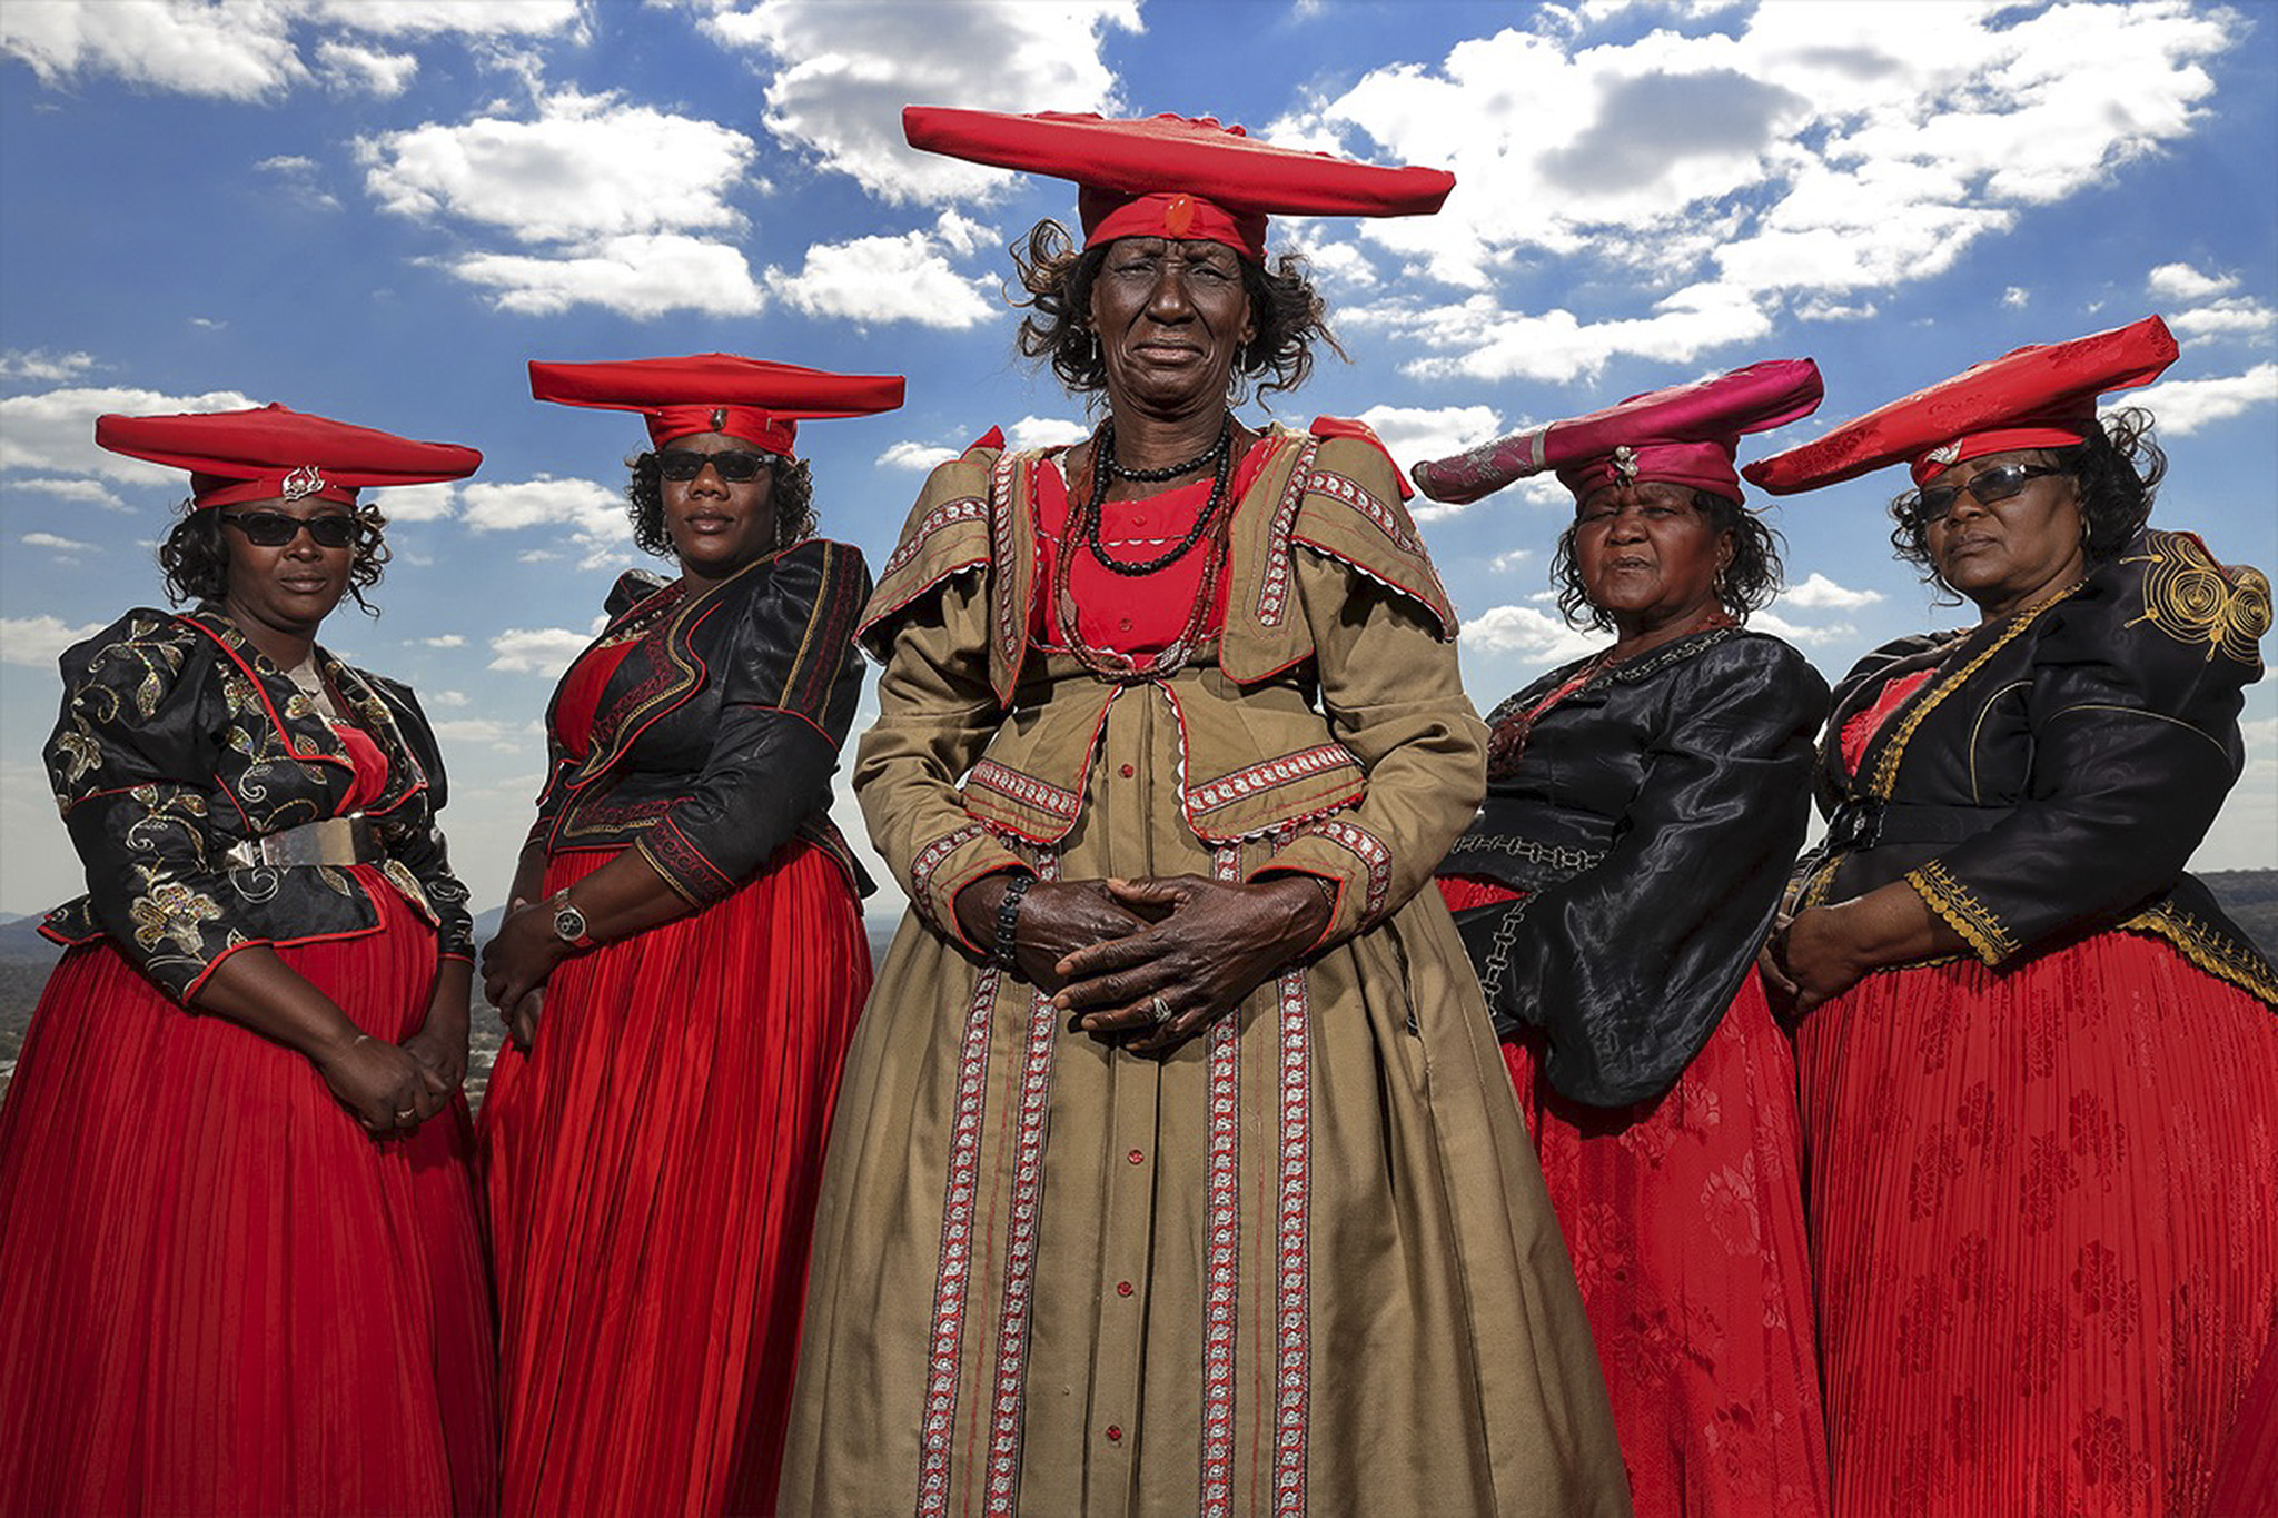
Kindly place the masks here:
[(1729, 637), (1667, 676), (1667, 721), (1606, 858), (1458, 915), (1499, 1024), (1542, 1029), (1551, 1086), (1592, 1106), (1667, 1090), (1731, 1004), (1811, 806), (1827, 683)]

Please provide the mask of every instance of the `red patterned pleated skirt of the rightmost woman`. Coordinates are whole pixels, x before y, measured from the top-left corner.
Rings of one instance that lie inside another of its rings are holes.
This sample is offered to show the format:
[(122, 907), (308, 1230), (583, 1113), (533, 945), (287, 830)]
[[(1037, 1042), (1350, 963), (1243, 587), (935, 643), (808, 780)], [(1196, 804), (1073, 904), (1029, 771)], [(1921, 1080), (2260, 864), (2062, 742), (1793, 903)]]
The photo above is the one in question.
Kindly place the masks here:
[(2278, 1511), (2210, 1498), (2278, 1436), (2271, 1008), (2100, 933), (1873, 974), (1797, 1054), (1838, 1513)]

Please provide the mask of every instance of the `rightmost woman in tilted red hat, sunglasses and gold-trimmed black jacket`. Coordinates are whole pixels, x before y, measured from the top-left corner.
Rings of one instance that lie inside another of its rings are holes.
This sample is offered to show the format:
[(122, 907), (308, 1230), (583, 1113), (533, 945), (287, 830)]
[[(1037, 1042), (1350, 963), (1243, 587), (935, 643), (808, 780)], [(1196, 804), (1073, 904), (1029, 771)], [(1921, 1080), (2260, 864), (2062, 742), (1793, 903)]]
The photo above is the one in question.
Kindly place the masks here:
[(1907, 462), (1893, 542), (1980, 612), (1836, 687), (1827, 842), (1765, 954), (1838, 1511), (2269, 1511), (2278, 974), (2182, 872), (2269, 583), (2148, 528), (2150, 419), (2096, 416), (2173, 357), (2157, 316), (2021, 348), (1747, 471)]

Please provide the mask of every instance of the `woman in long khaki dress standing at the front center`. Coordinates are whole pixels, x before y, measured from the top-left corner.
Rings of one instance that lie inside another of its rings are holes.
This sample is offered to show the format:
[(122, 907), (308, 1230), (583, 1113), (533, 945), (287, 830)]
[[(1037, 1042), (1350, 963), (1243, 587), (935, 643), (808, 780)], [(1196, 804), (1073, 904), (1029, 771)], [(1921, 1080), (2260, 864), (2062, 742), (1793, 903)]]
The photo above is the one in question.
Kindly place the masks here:
[(1105, 405), (934, 471), (857, 790), (911, 915), (847, 1058), (795, 1513), (1624, 1513), (1588, 1322), (1447, 910), (1453, 612), (1267, 212), (1449, 178), (1214, 123), (911, 109), (1084, 182), (1021, 346)]

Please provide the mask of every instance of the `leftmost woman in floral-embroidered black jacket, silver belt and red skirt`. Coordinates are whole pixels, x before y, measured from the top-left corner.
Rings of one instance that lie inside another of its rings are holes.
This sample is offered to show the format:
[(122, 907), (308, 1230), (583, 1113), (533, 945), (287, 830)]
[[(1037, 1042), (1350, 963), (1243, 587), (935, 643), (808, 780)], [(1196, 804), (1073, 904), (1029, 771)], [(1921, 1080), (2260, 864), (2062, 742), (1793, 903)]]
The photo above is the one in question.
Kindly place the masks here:
[(481, 455), (280, 405), (96, 442), (191, 471), (159, 562), (196, 608), (62, 658), (89, 894), (0, 1111), (0, 1511), (490, 1513), (442, 762), (317, 644), (387, 560), (358, 489)]

